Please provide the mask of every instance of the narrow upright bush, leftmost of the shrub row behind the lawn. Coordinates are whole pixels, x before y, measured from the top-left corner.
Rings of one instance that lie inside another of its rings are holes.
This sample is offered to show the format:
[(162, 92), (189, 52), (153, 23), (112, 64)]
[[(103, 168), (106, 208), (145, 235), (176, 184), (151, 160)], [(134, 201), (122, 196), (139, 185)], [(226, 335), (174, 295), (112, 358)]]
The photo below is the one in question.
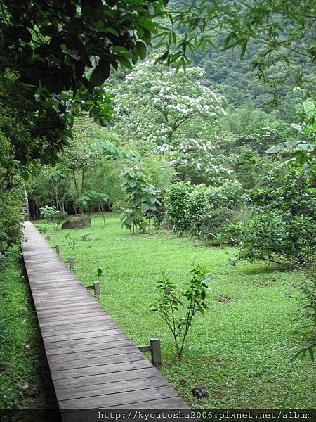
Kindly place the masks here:
[(166, 189), (166, 216), (178, 235), (190, 226), (186, 210), (192, 189), (189, 182), (173, 184)]

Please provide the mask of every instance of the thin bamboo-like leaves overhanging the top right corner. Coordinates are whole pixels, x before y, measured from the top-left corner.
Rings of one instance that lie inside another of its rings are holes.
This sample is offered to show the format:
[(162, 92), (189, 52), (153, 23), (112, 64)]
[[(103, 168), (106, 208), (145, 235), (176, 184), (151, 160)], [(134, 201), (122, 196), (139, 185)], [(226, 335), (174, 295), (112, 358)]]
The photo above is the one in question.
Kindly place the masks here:
[[(303, 84), (305, 65), (316, 60), (315, 12), (313, 0), (173, 1), (172, 27), (159, 34), (168, 42), (162, 58), (185, 66), (189, 51), (203, 53), (211, 46), (221, 51), (237, 47), (242, 59), (256, 41), (251, 59), (258, 79), (277, 89), (289, 70), (292, 79)], [(282, 72), (269, 75), (271, 66)]]

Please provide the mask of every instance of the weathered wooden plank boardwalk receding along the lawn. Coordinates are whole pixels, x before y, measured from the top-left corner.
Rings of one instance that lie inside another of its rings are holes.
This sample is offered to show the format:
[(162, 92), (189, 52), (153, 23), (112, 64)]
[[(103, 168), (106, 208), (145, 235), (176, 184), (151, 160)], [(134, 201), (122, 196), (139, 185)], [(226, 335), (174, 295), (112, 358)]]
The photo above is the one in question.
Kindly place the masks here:
[(62, 420), (79, 420), (74, 416), (81, 409), (187, 409), (31, 222), (24, 234), (25, 267)]

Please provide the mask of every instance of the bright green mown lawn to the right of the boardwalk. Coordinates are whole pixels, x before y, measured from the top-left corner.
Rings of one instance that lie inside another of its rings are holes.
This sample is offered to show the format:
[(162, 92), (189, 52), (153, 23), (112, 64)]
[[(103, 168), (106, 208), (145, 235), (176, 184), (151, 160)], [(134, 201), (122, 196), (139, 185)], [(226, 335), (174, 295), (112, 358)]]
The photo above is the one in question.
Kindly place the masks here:
[[(115, 216), (108, 216), (105, 226), (93, 217), (91, 229), (46, 227), (51, 244), (60, 244), (62, 258), (74, 257), (82, 283), (96, 281), (98, 267), (103, 268), (100, 302), (137, 345), (149, 343), (150, 337), (162, 339), (161, 372), (192, 407), (315, 407), (312, 363), (288, 363), (298, 350), (297, 327), (303, 322), (291, 287), (300, 277), (298, 271), (246, 262), (232, 267), (232, 248), (202, 243), (195, 248), (190, 238), (166, 231), (133, 236), (121, 229)], [(81, 240), (85, 233), (88, 241)], [(71, 241), (77, 248), (69, 248)], [(197, 316), (178, 361), (171, 334), (148, 305), (163, 271), (168, 269), (183, 286), (197, 263), (213, 275), (210, 307)], [(209, 397), (201, 401), (191, 393), (198, 382), (209, 389)]]

